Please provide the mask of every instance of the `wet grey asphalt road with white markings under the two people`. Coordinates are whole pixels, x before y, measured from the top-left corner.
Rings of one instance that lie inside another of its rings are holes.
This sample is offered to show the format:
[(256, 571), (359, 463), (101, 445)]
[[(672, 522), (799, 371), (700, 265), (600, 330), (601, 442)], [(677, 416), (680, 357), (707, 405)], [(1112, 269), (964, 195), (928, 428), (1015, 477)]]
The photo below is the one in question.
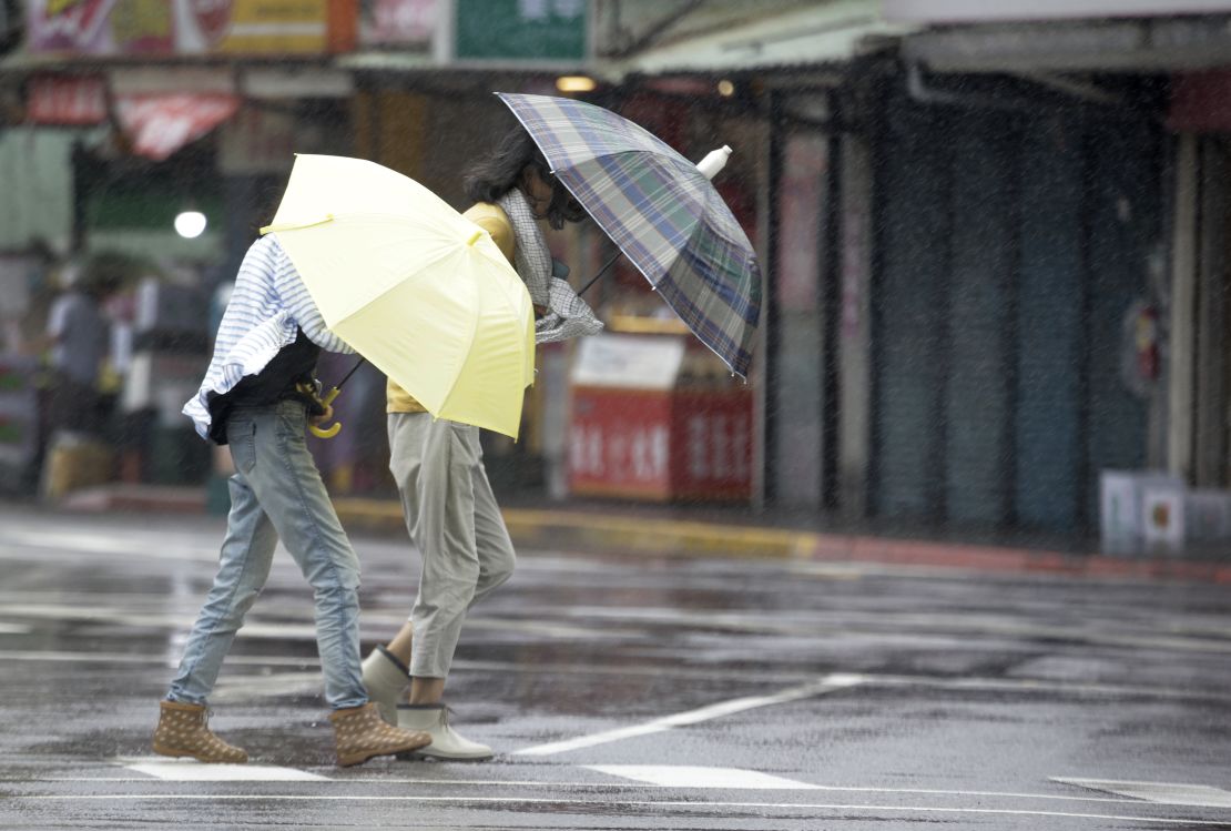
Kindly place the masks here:
[[(522, 550), (449, 682), (496, 760), (340, 769), (281, 553), (218, 767), (148, 740), (222, 522), (0, 526), (2, 827), (1231, 829), (1225, 587)], [(414, 558), (355, 542), (367, 649)]]

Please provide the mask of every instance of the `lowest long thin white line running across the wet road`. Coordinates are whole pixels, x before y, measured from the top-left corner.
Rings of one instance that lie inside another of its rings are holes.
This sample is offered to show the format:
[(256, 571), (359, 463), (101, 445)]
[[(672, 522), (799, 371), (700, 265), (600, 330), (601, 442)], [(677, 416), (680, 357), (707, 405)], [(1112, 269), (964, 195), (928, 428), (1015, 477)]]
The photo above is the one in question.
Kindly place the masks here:
[(760, 809), (782, 811), (835, 811), (841, 814), (852, 813), (885, 813), (885, 814), (961, 814), (961, 815), (992, 815), (992, 816), (1045, 816), (1080, 820), (1112, 820), (1117, 822), (1151, 822), (1156, 825), (1177, 824), (1194, 826), (1226, 827), (1226, 820), (1197, 820), (1185, 817), (1157, 817), (1157, 816), (1125, 816), (1115, 814), (1078, 814), (1070, 811), (1032, 811), (1025, 809), (1001, 809), (1001, 808), (934, 808), (929, 805), (846, 805), (842, 803), (758, 803), (758, 801), (696, 801), (696, 800), (654, 800), (654, 799), (567, 799), (558, 797), (362, 797), (357, 794), (38, 794), (38, 795), (11, 795), (10, 800), (39, 800), (39, 801), (320, 801), (320, 803), (453, 803), (457, 805), (574, 805), (577, 808), (595, 808), (609, 810), (612, 808), (682, 808), (696, 811), (699, 808), (712, 809)]

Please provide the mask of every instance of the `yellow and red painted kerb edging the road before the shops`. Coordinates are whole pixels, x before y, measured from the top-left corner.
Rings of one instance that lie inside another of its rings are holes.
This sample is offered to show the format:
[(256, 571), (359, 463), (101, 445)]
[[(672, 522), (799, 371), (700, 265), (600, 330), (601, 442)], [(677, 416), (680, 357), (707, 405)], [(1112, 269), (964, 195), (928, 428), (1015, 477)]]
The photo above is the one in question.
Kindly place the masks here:
[[(350, 531), (405, 533), (396, 500), (343, 497), (335, 505)], [(73, 494), (60, 507), (204, 513), (206, 492), (203, 488), (111, 485)], [(1231, 584), (1231, 545), (1168, 556), (1110, 556), (1097, 553), (1097, 542), (1030, 534), (974, 540), (971, 534), (875, 523), (852, 526), (815, 513), (757, 515), (745, 506), (510, 500), (502, 510), (513, 542), (535, 548)]]

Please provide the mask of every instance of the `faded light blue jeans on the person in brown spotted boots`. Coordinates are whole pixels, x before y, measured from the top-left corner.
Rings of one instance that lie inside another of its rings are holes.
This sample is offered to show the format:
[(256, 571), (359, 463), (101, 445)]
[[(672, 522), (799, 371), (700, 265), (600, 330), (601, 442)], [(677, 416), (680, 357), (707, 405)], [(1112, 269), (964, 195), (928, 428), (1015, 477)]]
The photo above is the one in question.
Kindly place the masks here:
[(368, 701), (359, 668), (359, 561), (337, 521), (304, 441), (302, 404), (231, 411), (235, 475), (218, 575), (192, 627), (167, 698), (204, 704), (244, 616), (270, 577), (278, 538), (315, 592), (316, 646), (325, 699), (335, 709)]

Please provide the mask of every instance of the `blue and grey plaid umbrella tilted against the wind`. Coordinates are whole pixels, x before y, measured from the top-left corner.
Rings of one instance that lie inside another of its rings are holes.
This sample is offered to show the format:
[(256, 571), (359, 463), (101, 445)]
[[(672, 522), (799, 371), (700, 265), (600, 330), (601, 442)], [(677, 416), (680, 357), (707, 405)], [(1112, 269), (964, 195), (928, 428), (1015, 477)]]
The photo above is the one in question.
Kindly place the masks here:
[(747, 377), (761, 270), (705, 175), (609, 110), (547, 95), (496, 95), (662, 299), (732, 372)]

